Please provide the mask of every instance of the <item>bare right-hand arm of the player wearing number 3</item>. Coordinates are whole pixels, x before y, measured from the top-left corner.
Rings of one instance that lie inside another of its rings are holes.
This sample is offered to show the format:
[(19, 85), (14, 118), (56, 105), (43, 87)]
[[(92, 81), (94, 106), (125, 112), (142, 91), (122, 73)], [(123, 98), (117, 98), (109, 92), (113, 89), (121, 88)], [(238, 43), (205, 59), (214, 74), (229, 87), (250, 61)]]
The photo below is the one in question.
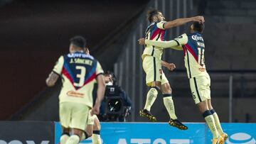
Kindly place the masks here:
[(100, 113), (100, 104), (105, 94), (105, 79), (102, 74), (97, 76), (97, 98), (95, 101), (95, 106), (93, 106), (91, 115)]

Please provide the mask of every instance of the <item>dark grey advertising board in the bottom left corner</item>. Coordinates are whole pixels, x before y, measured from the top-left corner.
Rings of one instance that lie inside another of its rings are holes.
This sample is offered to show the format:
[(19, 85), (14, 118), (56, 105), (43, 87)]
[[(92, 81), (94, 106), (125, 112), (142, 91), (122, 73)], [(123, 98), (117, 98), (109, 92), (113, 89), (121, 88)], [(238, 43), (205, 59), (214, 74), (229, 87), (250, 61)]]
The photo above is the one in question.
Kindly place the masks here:
[(53, 144), (54, 123), (1, 121), (0, 144)]

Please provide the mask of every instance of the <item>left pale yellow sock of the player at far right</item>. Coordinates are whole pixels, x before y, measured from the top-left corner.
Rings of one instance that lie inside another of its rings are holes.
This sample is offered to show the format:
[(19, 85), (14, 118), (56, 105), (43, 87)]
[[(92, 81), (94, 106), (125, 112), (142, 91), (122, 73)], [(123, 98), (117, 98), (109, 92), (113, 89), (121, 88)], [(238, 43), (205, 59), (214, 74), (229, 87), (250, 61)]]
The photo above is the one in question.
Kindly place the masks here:
[(213, 115), (210, 113), (210, 111), (205, 111), (203, 113), (203, 117), (206, 120), (207, 126), (210, 128), (210, 132), (213, 134), (213, 138), (218, 138), (220, 134), (215, 126)]

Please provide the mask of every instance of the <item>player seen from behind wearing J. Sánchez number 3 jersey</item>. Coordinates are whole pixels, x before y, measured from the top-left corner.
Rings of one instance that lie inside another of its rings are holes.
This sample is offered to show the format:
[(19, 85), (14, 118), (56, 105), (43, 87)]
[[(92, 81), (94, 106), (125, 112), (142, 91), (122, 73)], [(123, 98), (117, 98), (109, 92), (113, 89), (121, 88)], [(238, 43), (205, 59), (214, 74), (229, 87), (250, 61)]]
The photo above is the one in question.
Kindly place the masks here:
[[(75, 36), (70, 39), (70, 53), (60, 56), (53, 71), (46, 79), (52, 87), (58, 77), (63, 80), (60, 91), (60, 124), (63, 135), (61, 144), (78, 144), (85, 131), (89, 114), (98, 114), (105, 93), (105, 82), (100, 62), (83, 52), (85, 38)], [(92, 107), (92, 89), (97, 82), (97, 99)], [(89, 110), (91, 109), (91, 113)], [(71, 133), (71, 135), (70, 135)]]

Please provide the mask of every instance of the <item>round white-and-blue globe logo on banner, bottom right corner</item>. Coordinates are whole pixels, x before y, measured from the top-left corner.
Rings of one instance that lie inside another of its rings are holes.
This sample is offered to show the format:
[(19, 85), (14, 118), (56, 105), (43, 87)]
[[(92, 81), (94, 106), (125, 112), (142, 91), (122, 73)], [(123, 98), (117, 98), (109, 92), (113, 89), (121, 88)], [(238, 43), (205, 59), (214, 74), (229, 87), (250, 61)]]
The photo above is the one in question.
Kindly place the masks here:
[(230, 138), (227, 140), (228, 144), (255, 144), (256, 140), (255, 138), (252, 138), (251, 135), (247, 133), (235, 133), (230, 136)]

